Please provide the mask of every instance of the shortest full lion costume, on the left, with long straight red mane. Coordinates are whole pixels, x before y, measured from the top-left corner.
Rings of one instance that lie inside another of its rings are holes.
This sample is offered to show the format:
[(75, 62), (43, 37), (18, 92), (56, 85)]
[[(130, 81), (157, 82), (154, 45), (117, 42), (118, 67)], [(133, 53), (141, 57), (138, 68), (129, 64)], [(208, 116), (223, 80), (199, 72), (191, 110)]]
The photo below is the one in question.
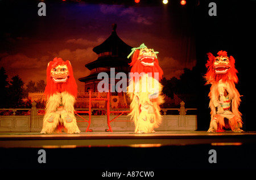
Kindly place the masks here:
[(63, 128), (69, 134), (79, 133), (74, 115), (77, 84), (68, 60), (54, 58), (48, 63), (44, 95), (47, 102), (41, 133), (61, 132)]

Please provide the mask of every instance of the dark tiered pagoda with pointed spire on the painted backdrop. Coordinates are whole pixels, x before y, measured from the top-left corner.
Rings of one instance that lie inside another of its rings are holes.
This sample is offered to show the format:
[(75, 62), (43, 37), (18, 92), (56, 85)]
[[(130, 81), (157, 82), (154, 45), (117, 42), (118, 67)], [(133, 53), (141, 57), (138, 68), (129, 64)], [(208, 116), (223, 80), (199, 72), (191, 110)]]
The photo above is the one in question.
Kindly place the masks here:
[[(93, 48), (93, 52), (98, 54), (98, 58), (85, 65), (85, 67), (90, 70), (90, 75), (79, 78), (80, 82), (85, 83), (85, 92), (88, 92), (89, 89), (92, 89), (93, 92), (97, 92), (97, 85), (102, 80), (97, 79), (100, 72), (106, 72), (109, 75), (110, 84), (110, 68), (114, 68), (115, 74), (124, 72), (127, 77), (129, 77), (130, 59), (127, 59), (127, 55), (130, 54), (132, 47), (127, 45), (117, 36), (116, 24), (112, 24), (112, 28), (112, 34), (102, 42), (102, 44)], [(115, 83), (118, 81), (119, 80)], [(117, 92), (112, 92), (112, 95), (117, 95)]]

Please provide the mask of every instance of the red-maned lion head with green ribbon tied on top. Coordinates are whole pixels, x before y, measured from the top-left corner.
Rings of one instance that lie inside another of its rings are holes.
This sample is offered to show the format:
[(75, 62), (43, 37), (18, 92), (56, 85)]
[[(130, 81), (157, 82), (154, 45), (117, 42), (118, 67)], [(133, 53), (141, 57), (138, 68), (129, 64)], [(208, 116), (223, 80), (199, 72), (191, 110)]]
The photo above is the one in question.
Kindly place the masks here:
[(128, 55), (127, 58), (133, 54), (133, 58), (131, 59), (131, 63), (129, 64), (131, 66), (131, 72), (135, 73), (138, 72), (141, 74), (141, 72), (148, 73), (152, 72), (152, 77), (154, 78), (154, 72), (157, 72), (159, 75), (159, 80), (162, 79), (163, 76), (163, 70), (159, 66), (158, 58), (156, 54), (158, 52), (155, 52), (154, 49), (148, 49), (147, 46), (141, 44), (138, 48), (131, 49), (132, 52)]

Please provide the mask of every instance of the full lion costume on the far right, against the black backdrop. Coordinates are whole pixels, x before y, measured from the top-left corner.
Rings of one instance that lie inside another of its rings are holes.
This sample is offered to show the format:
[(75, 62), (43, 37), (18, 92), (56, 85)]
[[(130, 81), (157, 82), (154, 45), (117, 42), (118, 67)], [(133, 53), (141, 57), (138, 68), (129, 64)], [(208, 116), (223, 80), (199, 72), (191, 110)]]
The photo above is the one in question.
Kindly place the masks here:
[(234, 66), (235, 59), (227, 52), (220, 51), (214, 57), (208, 53), (208, 68), (205, 74), (206, 84), (212, 84), (209, 92), (209, 108), (211, 120), (208, 132), (223, 132), (231, 129), (234, 132), (242, 132), (240, 105), (240, 93), (235, 87), (238, 82), (237, 70)]

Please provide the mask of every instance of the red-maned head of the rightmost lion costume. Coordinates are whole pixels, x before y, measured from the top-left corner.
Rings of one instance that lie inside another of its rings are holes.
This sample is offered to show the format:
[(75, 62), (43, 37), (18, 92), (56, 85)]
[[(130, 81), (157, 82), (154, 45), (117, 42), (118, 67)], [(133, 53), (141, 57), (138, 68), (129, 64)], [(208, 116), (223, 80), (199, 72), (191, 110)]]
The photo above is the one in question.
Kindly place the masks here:
[(206, 84), (212, 84), (222, 79), (222, 82), (231, 80), (234, 83), (238, 82), (237, 70), (235, 68), (235, 59), (225, 51), (219, 51), (217, 57), (214, 57), (212, 53), (207, 53), (208, 61), (205, 65), (208, 70), (205, 74)]

